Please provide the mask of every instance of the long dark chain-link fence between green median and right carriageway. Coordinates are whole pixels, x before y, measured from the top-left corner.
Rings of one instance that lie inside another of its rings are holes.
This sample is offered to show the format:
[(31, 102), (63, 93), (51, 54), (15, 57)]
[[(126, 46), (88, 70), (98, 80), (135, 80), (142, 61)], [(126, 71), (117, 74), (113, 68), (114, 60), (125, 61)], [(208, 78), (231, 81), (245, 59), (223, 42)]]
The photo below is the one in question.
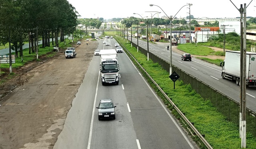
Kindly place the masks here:
[[(132, 46), (137, 47), (135, 43)], [(147, 56), (148, 51), (138, 48), (142, 54)], [(170, 71), (170, 63), (166, 62), (162, 58), (149, 52), (149, 58), (154, 62), (162, 66), (167, 72)], [(204, 99), (208, 99), (211, 103), (224, 115), (227, 120), (236, 123), (239, 126), (239, 115), (240, 115), (240, 103), (234, 101), (230, 97), (224, 95), (220, 91), (212, 88), (206, 83), (200, 81), (196, 77), (186, 73), (180, 68), (172, 65), (174, 70), (179, 76), (179, 80), (182, 80), (186, 84), (190, 84), (191, 87), (201, 95)], [(256, 137), (256, 112), (246, 108), (246, 131)]]

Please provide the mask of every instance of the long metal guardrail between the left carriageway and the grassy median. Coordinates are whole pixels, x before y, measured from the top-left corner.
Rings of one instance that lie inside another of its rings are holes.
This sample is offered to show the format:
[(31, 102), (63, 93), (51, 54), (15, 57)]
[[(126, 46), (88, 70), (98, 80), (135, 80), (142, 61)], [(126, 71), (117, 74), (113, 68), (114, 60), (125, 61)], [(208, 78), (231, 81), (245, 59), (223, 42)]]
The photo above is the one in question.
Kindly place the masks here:
[[(122, 45), (121, 43), (119, 43)], [(132, 56), (132, 54), (122, 45), (122, 47), (130, 54), (130, 56), (134, 59), (134, 61), (138, 64), (138, 66), (144, 71), (144, 73), (150, 78), (150, 80), (156, 85), (156, 87), (161, 91), (161, 93), (164, 95), (164, 97), (172, 104), (174, 109), (180, 114), (180, 116), (186, 121), (186, 123), (189, 125), (189, 127), (196, 133), (196, 135), (199, 137), (199, 139), (204, 143), (204, 145), (208, 149), (213, 149), (211, 145), (204, 139), (204, 137), (200, 134), (200, 132), (194, 127), (194, 125), (187, 119), (187, 117), (180, 111), (180, 109), (172, 102), (172, 100), (164, 93), (164, 91), (161, 89), (161, 87), (154, 81), (154, 79), (146, 72), (146, 70), (139, 64), (139, 62)]]

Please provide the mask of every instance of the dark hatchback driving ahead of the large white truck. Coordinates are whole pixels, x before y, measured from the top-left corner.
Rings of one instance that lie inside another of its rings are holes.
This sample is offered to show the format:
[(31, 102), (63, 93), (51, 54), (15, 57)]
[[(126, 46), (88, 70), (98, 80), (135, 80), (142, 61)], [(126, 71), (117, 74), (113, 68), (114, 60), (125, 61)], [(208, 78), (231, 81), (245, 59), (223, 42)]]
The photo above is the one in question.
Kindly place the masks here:
[(102, 118), (113, 118), (116, 119), (114, 103), (111, 99), (102, 99), (100, 100), (99, 106), (96, 107), (98, 109), (98, 119), (99, 121)]

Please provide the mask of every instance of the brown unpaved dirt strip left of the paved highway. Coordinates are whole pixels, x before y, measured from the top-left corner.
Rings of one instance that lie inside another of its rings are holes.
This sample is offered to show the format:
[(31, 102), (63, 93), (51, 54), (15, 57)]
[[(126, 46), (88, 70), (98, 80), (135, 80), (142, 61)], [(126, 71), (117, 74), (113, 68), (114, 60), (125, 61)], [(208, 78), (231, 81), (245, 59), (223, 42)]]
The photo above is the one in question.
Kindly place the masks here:
[(83, 41), (74, 45), (76, 58), (66, 59), (60, 50), (13, 69), (18, 76), (0, 85), (0, 149), (53, 148), (97, 46)]

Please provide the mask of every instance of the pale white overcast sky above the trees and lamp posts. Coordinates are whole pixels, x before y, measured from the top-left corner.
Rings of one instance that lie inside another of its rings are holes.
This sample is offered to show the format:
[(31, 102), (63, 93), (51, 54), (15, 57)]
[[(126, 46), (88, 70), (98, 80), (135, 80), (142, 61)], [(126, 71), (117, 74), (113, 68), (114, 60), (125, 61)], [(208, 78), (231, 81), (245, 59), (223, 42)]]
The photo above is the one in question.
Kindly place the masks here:
[[(160, 18), (166, 15), (174, 16), (187, 3), (193, 4), (190, 6), (190, 14), (194, 18), (240, 17), (240, 12), (237, 10), (237, 8), (240, 8), (240, 4), (243, 7), (246, 4), (246, 16), (256, 17), (255, 0), (68, 0), (68, 2), (76, 8), (76, 11), (81, 15), (80, 18), (112, 19), (130, 16), (140, 18), (138, 14), (142, 17), (148, 16), (151, 18), (156, 12), (161, 12), (159, 14)], [(159, 6), (166, 14), (159, 7), (151, 7), (150, 4)], [(188, 6), (184, 6), (176, 17), (186, 17), (189, 16), (188, 13)], [(158, 17), (157, 14), (154, 17)]]

